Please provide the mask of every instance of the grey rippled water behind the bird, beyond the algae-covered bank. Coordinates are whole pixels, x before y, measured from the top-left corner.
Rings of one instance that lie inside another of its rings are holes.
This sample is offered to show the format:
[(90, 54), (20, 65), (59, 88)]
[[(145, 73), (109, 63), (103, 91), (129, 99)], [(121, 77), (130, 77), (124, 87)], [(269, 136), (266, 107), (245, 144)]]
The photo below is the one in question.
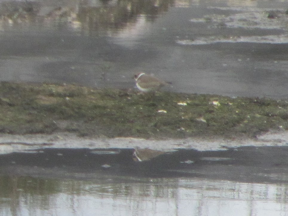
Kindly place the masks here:
[(288, 97), (285, 1), (39, 4), (36, 22), (1, 22), (0, 80), (129, 89), (144, 71), (176, 92)]

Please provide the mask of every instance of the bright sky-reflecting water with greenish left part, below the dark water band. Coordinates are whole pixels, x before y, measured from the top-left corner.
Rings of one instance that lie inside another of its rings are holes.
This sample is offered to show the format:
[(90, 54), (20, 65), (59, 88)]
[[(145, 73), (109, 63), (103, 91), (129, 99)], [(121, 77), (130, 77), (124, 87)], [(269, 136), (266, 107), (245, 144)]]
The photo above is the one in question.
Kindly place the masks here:
[(197, 178), (127, 184), (28, 177), (11, 183), (12, 194), (1, 198), (1, 215), (287, 214), (287, 188), (281, 184)]

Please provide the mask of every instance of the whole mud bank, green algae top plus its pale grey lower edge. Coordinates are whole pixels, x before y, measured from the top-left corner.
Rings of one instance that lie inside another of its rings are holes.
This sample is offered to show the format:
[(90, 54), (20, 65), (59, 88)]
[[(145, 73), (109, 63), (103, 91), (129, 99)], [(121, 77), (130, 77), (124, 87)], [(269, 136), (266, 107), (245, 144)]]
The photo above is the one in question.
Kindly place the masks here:
[(219, 150), (286, 145), (288, 103), (67, 84), (0, 83), (1, 151), (53, 148)]

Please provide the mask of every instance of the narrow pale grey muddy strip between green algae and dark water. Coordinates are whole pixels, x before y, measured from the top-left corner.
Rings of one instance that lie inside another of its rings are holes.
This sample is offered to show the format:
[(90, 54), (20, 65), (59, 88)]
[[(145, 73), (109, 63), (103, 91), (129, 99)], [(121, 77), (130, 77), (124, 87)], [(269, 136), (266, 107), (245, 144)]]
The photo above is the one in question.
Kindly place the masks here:
[(268, 132), (257, 138), (186, 138), (167, 140), (145, 140), (137, 138), (80, 138), (73, 133), (52, 135), (0, 135), (0, 154), (30, 152), (43, 148), (150, 148), (157, 150), (197, 149), (225, 150), (239, 146), (285, 146), (288, 132)]

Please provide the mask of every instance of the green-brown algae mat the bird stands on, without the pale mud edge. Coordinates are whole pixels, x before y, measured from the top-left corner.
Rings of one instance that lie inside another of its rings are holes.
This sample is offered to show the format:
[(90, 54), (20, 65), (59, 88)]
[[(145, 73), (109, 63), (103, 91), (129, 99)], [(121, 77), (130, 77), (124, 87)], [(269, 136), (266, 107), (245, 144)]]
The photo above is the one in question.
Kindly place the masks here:
[(288, 129), (288, 102), (76, 85), (0, 83), (0, 132), (185, 138)]

